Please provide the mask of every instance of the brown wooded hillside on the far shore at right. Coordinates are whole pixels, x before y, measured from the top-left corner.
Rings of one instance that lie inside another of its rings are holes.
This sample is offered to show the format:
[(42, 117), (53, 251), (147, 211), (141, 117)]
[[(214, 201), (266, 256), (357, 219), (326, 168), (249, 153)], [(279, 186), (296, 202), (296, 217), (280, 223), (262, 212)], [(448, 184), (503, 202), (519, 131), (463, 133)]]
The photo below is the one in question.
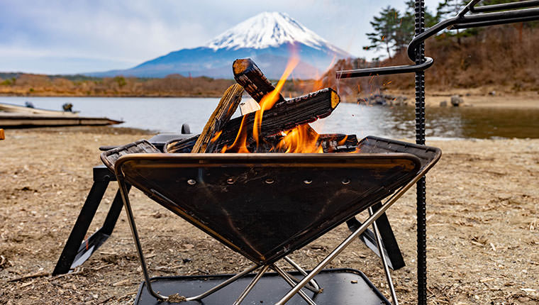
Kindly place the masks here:
[[(429, 89), (471, 89), (488, 87), (499, 91), (539, 91), (539, 30), (514, 26), (495, 26), (477, 35), (461, 38), (444, 34), (426, 41), (426, 56), (434, 65), (426, 71)], [(379, 66), (411, 64), (405, 52), (380, 62)], [(341, 79), (335, 71), (369, 67), (361, 60), (340, 60), (324, 74), (324, 86), (339, 87), (341, 95), (375, 94), (379, 88), (413, 89), (413, 74)]]

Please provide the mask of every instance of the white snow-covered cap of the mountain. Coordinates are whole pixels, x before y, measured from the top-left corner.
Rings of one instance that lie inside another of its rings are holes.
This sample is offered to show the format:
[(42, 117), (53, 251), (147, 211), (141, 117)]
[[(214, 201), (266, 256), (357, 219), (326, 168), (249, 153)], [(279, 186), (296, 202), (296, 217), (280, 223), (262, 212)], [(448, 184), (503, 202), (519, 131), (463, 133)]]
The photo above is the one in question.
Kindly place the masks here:
[(284, 43), (303, 43), (311, 48), (343, 52), (286, 13), (264, 12), (239, 23), (206, 44), (213, 50), (263, 49)]

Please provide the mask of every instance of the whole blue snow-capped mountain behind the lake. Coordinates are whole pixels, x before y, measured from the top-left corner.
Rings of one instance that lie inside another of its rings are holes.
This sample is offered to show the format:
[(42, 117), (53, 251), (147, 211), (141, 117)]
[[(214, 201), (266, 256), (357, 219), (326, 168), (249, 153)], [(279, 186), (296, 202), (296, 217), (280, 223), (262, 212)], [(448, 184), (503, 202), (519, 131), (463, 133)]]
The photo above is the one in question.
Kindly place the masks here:
[(232, 79), (232, 62), (251, 58), (270, 79), (281, 77), (292, 53), (299, 64), (291, 77), (320, 76), (333, 60), (351, 57), (289, 17), (264, 12), (226, 30), (199, 48), (182, 49), (127, 70), (85, 73), (95, 77), (166, 77), (169, 74)]

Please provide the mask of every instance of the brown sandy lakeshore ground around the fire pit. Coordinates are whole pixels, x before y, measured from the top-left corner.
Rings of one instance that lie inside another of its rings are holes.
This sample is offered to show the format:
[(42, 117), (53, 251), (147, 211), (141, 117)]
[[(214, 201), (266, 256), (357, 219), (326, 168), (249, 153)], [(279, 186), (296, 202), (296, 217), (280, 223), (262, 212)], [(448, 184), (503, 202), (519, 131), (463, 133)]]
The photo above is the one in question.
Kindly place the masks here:
[[(82, 268), (50, 272), (91, 186), (91, 168), (100, 163), (98, 147), (150, 136), (119, 128), (6, 131), (0, 304), (132, 304), (142, 275), (125, 214)], [(429, 304), (539, 304), (539, 140), (428, 144), (443, 150), (427, 179)], [(112, 184), (90, 232), (101, 226), (115, 191)], [(229, 273), (248, 265), (141, 192), (131, 199), (152, 275)], [(407, 264), (392, 273), (401, 304), (415, 303), (415, 214), (413, 189), (388, 213)], [(347, 234), (340, 226), (293, 257), (312, 267)], [(330, 267), (362, 270), (389, 297), (379, 259), (359, 241)]]

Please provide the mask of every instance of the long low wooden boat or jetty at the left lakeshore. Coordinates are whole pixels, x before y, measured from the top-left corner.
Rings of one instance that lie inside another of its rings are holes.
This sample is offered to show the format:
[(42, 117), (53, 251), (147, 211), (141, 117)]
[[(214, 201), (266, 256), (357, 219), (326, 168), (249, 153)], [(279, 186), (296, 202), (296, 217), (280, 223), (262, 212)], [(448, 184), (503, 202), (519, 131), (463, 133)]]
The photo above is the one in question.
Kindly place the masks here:
[(78, 111), (55, 111), (0, 103), (0, 127), (2, 128), (104, 126), (120, 123), (123, 121), (79, 116)]

